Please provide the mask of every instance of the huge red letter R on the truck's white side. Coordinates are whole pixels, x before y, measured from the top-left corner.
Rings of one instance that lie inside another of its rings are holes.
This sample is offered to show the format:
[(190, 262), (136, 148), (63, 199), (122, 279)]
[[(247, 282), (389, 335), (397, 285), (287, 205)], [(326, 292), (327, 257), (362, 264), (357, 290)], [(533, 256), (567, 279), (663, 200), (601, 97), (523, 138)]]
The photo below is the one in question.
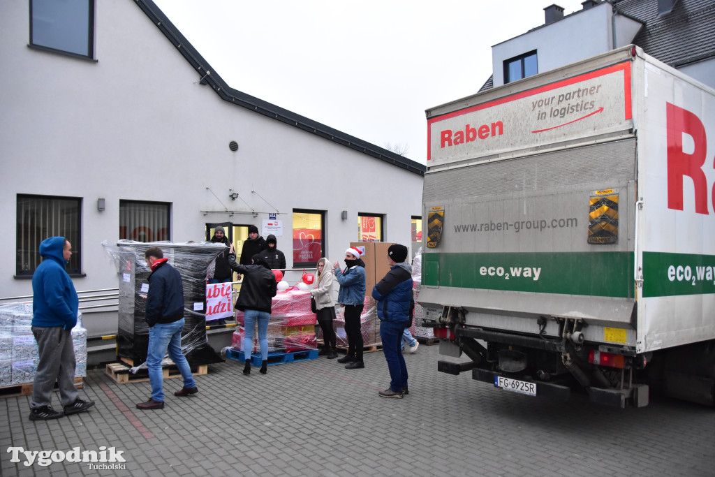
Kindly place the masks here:
[[(666, 102), (666, 131), (668, 208), (683, 210), (683, 180), (688, 176), (693, 180), (695, 190), (695, 212), (707, 215), (708, 182), (702, 169), (707, 149), (705, 127), (695, 114)], [(683, 133), (693, 138), (692, 154), (683, 151)], [(715, 197), (713, 205), (715, 206)]]

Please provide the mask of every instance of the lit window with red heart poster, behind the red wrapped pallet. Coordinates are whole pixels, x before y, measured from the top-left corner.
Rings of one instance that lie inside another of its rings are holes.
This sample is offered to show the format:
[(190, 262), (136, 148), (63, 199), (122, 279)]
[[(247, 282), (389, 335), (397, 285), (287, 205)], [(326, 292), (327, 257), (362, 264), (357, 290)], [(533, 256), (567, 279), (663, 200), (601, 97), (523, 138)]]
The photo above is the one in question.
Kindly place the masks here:
[(293, 209), (293, 267), (315, 267), (325, 250), (325, 212)]

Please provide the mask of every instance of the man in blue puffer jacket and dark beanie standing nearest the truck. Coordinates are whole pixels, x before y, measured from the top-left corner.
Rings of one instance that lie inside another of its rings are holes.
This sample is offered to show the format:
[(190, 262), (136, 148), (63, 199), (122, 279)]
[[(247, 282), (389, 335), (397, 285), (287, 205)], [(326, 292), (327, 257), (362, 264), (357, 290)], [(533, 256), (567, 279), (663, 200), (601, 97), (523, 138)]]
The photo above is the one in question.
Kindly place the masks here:
[(390, 271), (373, 287), (380, 318), (380, 338), (390, 370), (390, 388), (378, 393), (383, 398), (402, 398), (409, 393), (407, 366), (400, 352), (403, 332), (410, 326), (412, 295), (412, 266), (405, 262), (408, 250), (405, 245), (393, 244), (388, 248)]

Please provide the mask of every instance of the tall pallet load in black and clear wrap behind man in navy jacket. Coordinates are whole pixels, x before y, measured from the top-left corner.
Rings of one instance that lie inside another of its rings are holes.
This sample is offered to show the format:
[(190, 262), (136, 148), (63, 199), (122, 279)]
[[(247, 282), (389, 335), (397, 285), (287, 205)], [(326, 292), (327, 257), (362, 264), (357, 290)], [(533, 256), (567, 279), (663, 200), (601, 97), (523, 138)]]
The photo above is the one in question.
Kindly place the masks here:
[(119, 240), (116, 244), (102, 242), (105, 252), (117, 269), (119, 278), (119, 323), (117, 352), (135, 364), (132, 370), (146, 368), (149, 327), (144, 308), (149, 290), (147, 280), (151, 270), (144, 260), (149, 247), (159, 247), (169, 264), (182, 276), (184, 287), (184, 330), (182, 350), (189, 365), (220, 363), (220, 355), (211, 348), (206, 337), (206, 276), (209, 264), (225, 245), (174, 242), (134, 242)]

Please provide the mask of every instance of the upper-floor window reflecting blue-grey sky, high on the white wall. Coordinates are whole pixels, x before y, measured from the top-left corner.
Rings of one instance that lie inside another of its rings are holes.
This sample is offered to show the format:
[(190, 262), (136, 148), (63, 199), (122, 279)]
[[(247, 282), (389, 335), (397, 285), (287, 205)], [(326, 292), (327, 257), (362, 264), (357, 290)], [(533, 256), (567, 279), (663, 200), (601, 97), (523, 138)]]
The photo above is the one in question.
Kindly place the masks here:
[(93, 59), (94, 0), (30, 0), (30, 45)]

